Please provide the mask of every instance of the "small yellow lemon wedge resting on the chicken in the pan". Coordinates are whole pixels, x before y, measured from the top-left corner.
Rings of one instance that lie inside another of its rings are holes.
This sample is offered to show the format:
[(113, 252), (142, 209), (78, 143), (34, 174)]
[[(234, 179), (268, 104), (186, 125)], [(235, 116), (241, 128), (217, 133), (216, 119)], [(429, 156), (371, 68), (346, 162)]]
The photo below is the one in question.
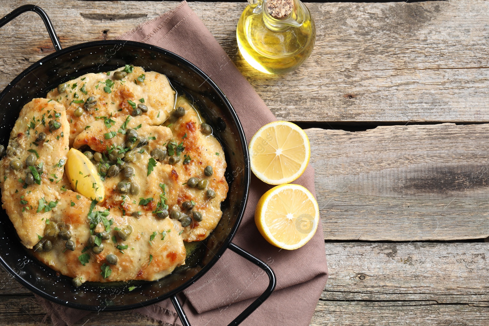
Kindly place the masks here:
[(97, 169), (85, 154), (70, 149), (67, 154), (65, 172), (74, 191), (83, 196), (101, 202), (105, 198), (105, 189)]

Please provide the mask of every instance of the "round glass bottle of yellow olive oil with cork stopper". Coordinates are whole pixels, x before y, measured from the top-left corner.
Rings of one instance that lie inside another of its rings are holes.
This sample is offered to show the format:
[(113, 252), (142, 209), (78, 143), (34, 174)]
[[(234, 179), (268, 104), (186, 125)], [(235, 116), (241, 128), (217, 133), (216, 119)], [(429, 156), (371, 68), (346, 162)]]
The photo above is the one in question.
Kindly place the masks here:
[(236, 28), (244, 59), (267, 74), (282, 74), (311, 55), (316, 29), (300, 0), (248, 0)]

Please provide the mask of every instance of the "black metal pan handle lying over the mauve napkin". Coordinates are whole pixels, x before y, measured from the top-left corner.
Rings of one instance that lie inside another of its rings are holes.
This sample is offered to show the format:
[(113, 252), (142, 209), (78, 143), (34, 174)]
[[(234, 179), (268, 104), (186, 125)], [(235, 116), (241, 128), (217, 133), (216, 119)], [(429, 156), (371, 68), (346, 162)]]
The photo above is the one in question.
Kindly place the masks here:
[[(275, 288), (275, 285), (277, 284), (277, 279), (275, 277), (275, 273), (273, 273), (273, 270), (265, 262), (259, 260), (255, 256), (251, 255), (249, 252), (243, 250), (242, 248), (238, 247), (236, 244), (234, 244), (232, 242), (229, 243), (228, 248), (231, 249), (232, 251), (234, 251), (235, 253), (237, 253), (238, 255), (244, 257), (248, 261), (251, 261), (252, 263), (257, 265), (261, 269), (263, 269), (267, 273), (268, 279), (269, 279), (268, 287), (265, 290), (265, 292), (263, 292), (263, 294), (261, 296), (259, 296), (258, 299), (253, 301), (246, 309), (244, 309), (244, 311), (242, 313), (240, 313), (238, 315), (238, 317), (236, 317), (228, 325), (228, 326), (237, 326), (237, 325), (240, 325), (241, 322), (243, 322), (244, 319), (246, 319), (246, 317), (248, 317), (253, 311), (255, 311), (256, 308), (258, 308), (260, 306), (260, 304), (263, 304), (263, 302), (265, 300), (267, 300), (267, 298), (270, 296), (270, 294), (272, 294), (273, 289)], [(191, 326), (190, 322), (187, 318), (187, 315), (185, 314), (185, 311), (183, 311), (183, 308), (178, 301), (177, 296), (176, 295), (172, 296), (170, 298), (170, 300), (172, 301), (172, 304), (175, 307), (175, 310), (177, 310), (177, 314), (178, 314), (178, 317), (180, 318), (182, 325), (183, 326)]]

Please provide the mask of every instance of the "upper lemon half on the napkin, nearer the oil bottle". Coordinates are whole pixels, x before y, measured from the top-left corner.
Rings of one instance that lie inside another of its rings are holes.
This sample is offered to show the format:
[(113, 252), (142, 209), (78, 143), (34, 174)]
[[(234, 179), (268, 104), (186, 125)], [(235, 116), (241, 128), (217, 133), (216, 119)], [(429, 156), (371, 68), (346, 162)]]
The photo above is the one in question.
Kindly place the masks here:
[(274, 121), (258, 130), (249, 143), (251, 171), (272, 185), (289, 183), (307, 168), (311, 157), (304, 130), (288, 121)]

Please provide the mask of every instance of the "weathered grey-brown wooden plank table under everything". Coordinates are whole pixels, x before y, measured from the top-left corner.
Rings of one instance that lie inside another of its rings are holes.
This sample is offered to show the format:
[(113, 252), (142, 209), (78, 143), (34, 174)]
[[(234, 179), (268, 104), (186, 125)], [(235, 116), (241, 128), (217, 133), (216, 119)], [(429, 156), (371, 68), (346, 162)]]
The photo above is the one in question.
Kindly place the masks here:
[[(1, 1), (0, 15), (28, 2)], [(176, 4), (39, 3), (64, 47), (112, 39)], [(311, 325), (489, 325), (489, 2), (309, 3), (316, 47), (283, 76), (240, 55), (245, 3), (190, 6), (278, 119), (313, 127), (331, 276)], [(0, 36), (1, 87), (54, 50), (34, 13)], [(0, 289), (0, 324), (50, 324), (2, 269)], [(130, 312), (79, 325), (121, 321), (155, 325)]]

